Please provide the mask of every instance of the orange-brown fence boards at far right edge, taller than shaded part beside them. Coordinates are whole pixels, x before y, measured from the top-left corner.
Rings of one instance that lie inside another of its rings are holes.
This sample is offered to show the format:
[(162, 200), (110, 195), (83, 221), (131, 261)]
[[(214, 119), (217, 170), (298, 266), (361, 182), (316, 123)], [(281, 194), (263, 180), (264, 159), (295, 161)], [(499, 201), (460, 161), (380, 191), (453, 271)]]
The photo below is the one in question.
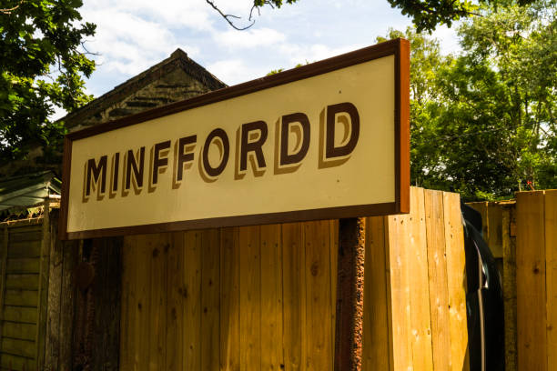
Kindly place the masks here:
[(557, 190), (516, 197), (519, 370), (557, 370)]

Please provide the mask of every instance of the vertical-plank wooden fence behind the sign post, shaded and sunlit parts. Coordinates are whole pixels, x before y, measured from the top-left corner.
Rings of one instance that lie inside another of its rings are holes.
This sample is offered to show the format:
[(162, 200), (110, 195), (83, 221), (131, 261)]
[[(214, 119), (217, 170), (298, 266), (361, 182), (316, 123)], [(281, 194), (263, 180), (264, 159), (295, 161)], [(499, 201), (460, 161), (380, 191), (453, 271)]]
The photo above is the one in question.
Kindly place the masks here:
[[(464, 370), (458, 195), (366, 221), (364, 370)], [(332, 370), (338, 222), (126, 236), (122, 370)]]

